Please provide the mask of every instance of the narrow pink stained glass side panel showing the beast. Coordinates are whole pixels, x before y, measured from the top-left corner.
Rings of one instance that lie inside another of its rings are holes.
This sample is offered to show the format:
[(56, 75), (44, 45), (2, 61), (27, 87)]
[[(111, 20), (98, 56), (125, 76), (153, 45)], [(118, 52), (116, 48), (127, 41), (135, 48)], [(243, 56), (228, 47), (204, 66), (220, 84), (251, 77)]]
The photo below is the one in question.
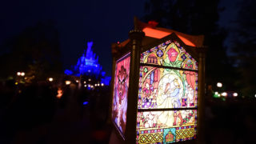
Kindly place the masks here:
[(112, 119), (122, 134), (126, 131), (126, 110), (130, 74), (130, 54), (117, 61), (114, 77)]

